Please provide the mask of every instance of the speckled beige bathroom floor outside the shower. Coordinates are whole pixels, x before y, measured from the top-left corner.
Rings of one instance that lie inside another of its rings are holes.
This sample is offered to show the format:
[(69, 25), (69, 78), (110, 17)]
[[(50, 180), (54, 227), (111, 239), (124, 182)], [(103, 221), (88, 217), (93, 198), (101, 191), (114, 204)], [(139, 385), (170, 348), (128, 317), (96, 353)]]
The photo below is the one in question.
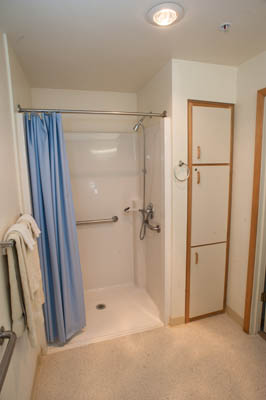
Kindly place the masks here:
[(265, 400), (266, 341), (227, 315), (45, 356), (34, 400)]

